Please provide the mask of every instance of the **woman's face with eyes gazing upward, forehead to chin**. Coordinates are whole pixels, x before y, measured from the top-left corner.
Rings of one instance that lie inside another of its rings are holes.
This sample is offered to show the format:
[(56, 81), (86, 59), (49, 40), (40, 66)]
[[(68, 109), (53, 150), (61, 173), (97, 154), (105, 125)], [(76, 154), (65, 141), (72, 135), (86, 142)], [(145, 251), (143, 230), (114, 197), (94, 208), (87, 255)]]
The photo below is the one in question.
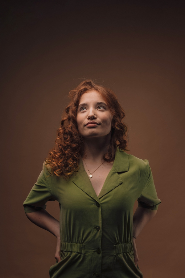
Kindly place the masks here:
[(112, 115), (105, 100), (95, 91), (84, 93), (79, 101), (76, 122), (82, 137), (101, 137), (111, 132)]

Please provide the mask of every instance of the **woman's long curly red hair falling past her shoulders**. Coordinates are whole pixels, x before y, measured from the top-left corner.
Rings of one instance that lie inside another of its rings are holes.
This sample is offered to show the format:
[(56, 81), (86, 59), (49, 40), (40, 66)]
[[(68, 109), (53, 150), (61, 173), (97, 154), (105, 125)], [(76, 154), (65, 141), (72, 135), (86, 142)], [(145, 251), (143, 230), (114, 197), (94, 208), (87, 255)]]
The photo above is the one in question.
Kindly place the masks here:
[(57, 130), (56, 146), (50, 151), (49, 158), (46, 159), (46, 165), (51, 169), (50, 173), (55, 176), (62, 175), (64, 178), (68, 178), (78, 170), (78, 162), (80, 156), (83, 155), (83, 138), (78, 131), (76, 114), (80, 97), (91, 90), (96, 90), (103, 97), (113, 116), (111, 142), (108, 152), (103, 157), (104, 160), (113, 161), (117, 147), (127, 150), (127, 126), (122, 122), (125, 112), (118, 103), (117, 96), (109, 88), (95, 84), (91, 79), (84, 80), (69, 92), (71, 101), (65, 109), (61, 127)]

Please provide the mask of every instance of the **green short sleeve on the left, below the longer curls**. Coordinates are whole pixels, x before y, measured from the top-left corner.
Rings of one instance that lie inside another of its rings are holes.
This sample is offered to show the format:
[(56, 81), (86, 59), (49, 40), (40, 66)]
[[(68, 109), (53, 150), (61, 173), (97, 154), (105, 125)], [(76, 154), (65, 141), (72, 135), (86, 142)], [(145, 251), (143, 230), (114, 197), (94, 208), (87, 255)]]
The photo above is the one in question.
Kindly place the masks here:
[(55, 201), (47, 182), (49, 175), (50, 173), (46, 169), (44, 162), (43, 170), (40, 173), (37, 182), (32, 187), (27, 199), (23, 203), (25, 212), (35, 212), (46, 209), (47, 201)]

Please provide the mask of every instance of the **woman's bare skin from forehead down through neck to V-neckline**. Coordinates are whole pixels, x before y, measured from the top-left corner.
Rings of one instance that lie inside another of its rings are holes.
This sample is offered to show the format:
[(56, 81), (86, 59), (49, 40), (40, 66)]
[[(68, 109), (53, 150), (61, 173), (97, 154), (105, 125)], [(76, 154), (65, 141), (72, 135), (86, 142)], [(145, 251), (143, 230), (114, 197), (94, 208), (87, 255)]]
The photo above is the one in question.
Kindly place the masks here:
[(84, 169), (88, 175), (88, 170), (93, 173), (90, 182), (97, 196), (113, 166), (113, 161), (103, 160), (110, 144), (112, 118), (105, 100), (97, 91), (92, 90), (81, 96), (76, 122), (84, 139)]

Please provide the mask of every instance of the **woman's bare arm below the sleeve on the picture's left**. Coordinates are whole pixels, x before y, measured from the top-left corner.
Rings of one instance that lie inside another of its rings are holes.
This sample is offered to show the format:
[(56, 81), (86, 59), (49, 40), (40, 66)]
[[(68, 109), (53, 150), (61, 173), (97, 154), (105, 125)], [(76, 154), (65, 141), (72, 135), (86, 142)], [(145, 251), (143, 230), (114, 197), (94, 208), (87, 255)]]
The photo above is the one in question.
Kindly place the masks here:
[(26, 213), (27, 218), (35, 225), (52, 233), (57, 239), (55, 259), (60, 262), (60, 227), (59, 221), (45, 210)]

